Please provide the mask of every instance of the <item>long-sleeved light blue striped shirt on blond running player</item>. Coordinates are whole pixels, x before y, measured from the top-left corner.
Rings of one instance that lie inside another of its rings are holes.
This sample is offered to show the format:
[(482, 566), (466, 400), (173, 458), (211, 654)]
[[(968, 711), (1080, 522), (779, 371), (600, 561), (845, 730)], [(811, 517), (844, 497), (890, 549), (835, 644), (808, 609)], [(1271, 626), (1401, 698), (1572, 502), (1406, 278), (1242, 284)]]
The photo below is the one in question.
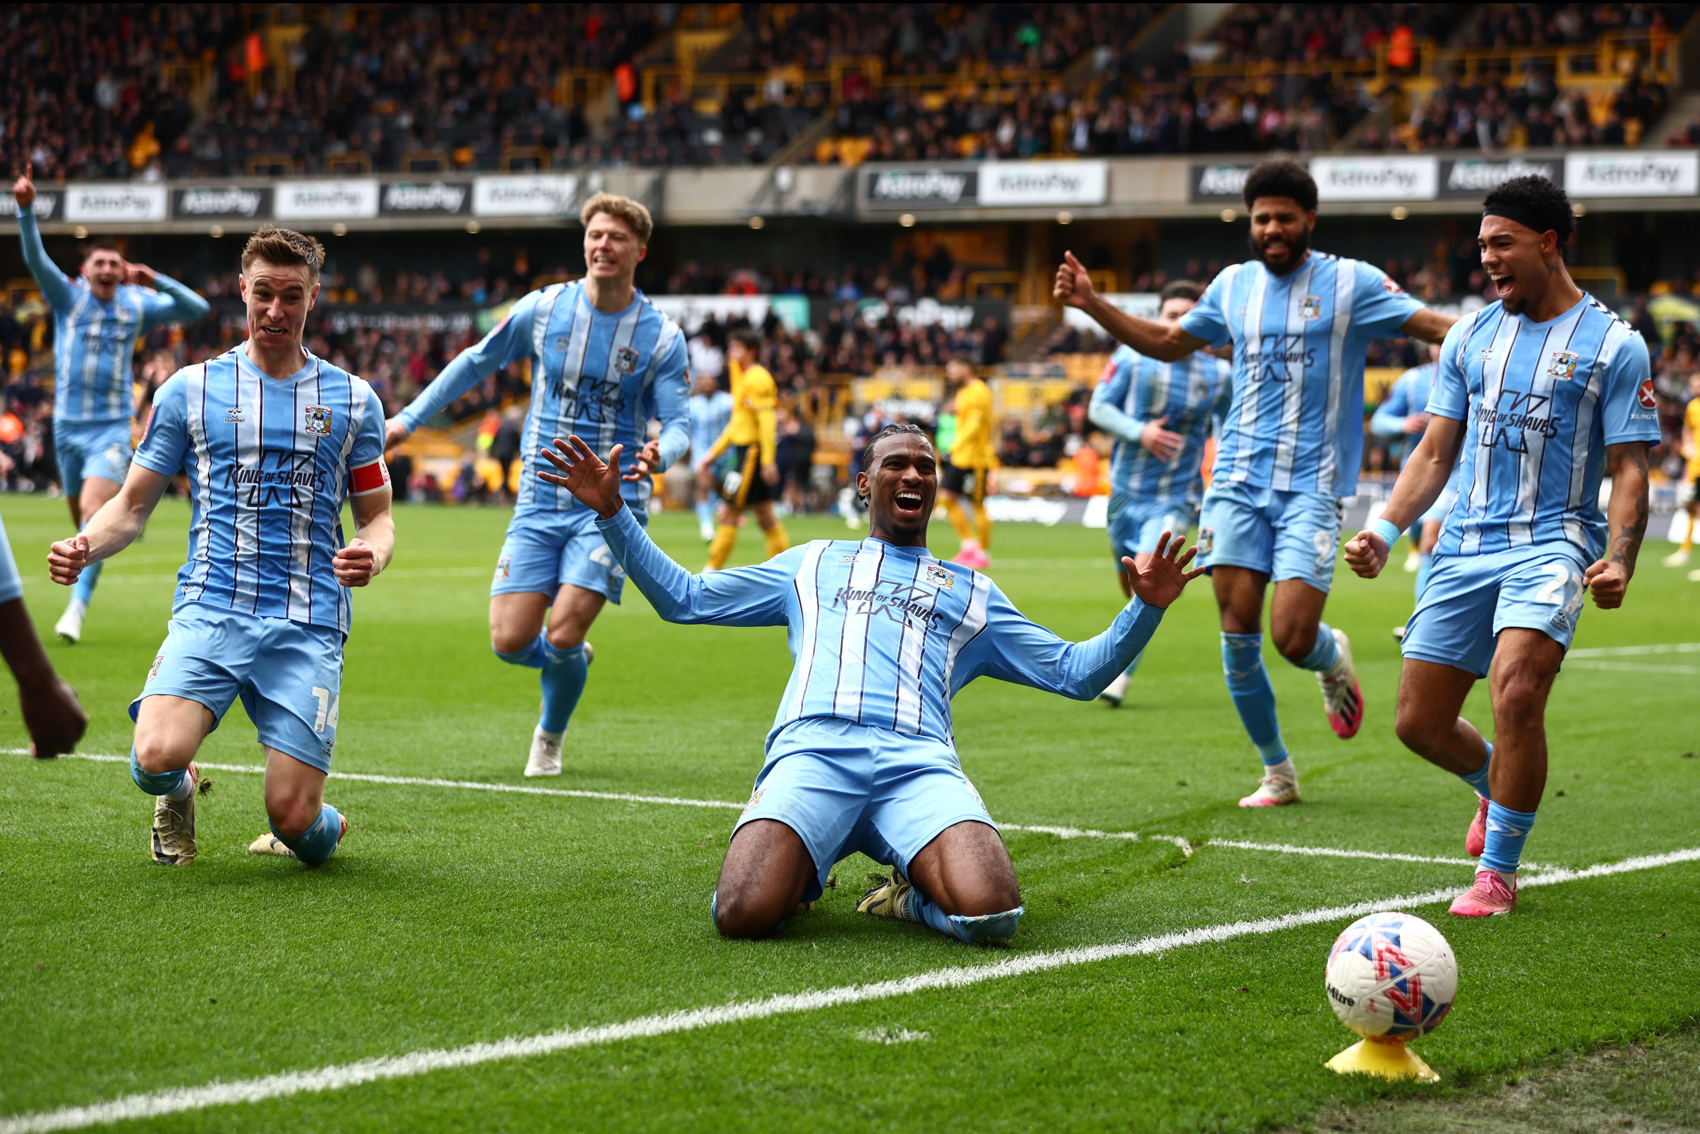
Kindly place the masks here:
[[(597, 311), (583, 281), (551, 284), (520, 298), (483, 342), (456, 355), (400, 417), (410, 430), (418, 428), (486, 374), (527, 357), (532, 403), (520, 434), (525, 474), (517, 513), (581, 507), (564, 488), (537, 479), (537, 473), (554, 471), (542, 459), (542, 447), (556, 437), (576, 434), (604, 459), (614, 445), (626, 445), (620, 456), (629, 473), (648, 440), (649, 418), (660, 418), (660, 469), (685, 456), (690, 445), (685, 335), (641, 291), (624, 311)], [(643, 505), (653, 485), (644, 476), (626, 481), (622, 491)]]

